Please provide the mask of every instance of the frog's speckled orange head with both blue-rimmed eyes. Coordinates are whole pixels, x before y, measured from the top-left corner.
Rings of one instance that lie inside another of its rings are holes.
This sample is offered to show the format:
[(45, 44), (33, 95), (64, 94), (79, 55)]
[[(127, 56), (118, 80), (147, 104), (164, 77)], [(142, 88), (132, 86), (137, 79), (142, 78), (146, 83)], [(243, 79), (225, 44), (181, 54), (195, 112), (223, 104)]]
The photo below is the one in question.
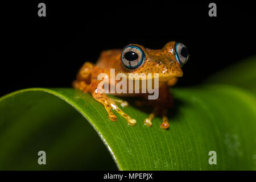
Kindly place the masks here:
[(159, 81), (183, 76), (181, 67), (188, 60), (187, 48), (178, 42), (168, 42), (162, 49), (145, 49), (129, 44), (121, 53), (125, 73), (158, 73)]

